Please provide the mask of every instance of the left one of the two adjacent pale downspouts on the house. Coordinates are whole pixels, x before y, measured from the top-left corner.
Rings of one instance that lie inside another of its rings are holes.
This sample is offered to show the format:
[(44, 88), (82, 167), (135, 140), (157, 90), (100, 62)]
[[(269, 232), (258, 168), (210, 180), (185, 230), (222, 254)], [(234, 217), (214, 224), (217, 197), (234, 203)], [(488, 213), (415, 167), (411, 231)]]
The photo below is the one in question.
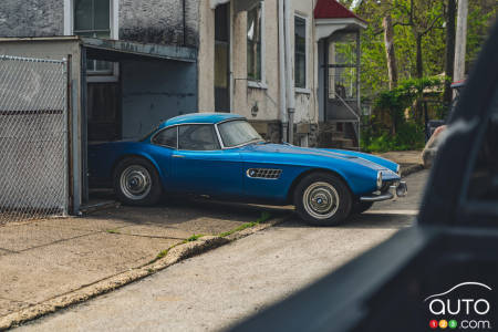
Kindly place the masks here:
[(280, 122), (282, 126), (282, 143), (288, 142), (287, 128), (287, 95), (286, 95), (286, 40), (283, 33), (283, 0), (279, 0), (279, 87), (280, 87)]

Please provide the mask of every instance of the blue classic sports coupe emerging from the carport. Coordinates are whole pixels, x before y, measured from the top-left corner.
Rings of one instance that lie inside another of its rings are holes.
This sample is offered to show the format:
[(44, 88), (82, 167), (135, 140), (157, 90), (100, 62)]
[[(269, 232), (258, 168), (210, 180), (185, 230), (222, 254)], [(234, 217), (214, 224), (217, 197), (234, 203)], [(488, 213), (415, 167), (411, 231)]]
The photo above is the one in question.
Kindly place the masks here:
[(272, 144), (242, 116), (170, 118), (138, 142), (93, 145), (92, 183), (113, 183), (127, 205), (163, 193), (270, 205), (293, 204), (302, 219), (336, 225), (374, 201), (405, 196), (400, 165), (369, 154)]

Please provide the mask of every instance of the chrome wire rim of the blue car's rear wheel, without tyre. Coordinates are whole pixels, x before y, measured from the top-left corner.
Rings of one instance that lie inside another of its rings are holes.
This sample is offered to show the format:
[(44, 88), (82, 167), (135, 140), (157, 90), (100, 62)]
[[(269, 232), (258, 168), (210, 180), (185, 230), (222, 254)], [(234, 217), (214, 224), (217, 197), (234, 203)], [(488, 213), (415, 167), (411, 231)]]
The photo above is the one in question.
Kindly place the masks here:
[(143, 199), (151, 193), (151, 174), (141, 165), (128, 166), (121, 174), (120, 187), (126, 198), (132, 200)]

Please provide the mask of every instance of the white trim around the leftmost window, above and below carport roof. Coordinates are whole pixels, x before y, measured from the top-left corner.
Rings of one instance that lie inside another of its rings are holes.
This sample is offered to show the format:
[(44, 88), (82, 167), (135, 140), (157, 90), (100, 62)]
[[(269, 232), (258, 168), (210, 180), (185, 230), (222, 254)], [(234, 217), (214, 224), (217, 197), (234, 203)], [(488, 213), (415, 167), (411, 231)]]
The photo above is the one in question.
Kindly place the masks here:
[[(110, 0), (111, 39), (120, 39), (120, 0)], [(64, 35), (74, 35), (74, 0), (64, 0)], [(86, 82), (117, 82), (120, 80), (120, 64), (114, 63), (112, 75), (86, 75)]]

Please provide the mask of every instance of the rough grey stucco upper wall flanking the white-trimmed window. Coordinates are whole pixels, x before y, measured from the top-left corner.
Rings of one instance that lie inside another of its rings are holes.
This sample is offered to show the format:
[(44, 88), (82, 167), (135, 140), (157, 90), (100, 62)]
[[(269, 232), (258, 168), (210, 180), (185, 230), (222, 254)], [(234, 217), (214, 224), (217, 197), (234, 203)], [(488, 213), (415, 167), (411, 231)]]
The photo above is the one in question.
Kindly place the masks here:
[[(194, 48), (198, 45), (197, 0), (118, 1), (121, 40)], [(0, 37), (63, 34), (64, 0), (0, 1)]]

